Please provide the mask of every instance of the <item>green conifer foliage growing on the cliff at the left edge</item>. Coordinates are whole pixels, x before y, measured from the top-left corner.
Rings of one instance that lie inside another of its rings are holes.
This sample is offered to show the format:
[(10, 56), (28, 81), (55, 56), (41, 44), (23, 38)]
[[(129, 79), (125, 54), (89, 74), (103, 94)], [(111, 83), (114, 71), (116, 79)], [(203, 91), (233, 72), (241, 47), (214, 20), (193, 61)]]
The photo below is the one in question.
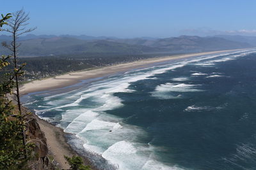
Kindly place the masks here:
[[(0, 26), (7, 24), (6, 20), (10, 17), (10, 14), (2, 15)], [(21, 169), (26, 164), (26, 151), (29, 150), (29, 145), (23, 142), (23, 132), (26, 128), (23, 115), (17, 114), (11, 97), (15, 77), (22, 74), (24, 65), (10, 69), (11, 58), (10, 55), (2, 55), (0, 59), (0, 71), (6, 71), (0, 83), (0, 169), (13, 170)]]

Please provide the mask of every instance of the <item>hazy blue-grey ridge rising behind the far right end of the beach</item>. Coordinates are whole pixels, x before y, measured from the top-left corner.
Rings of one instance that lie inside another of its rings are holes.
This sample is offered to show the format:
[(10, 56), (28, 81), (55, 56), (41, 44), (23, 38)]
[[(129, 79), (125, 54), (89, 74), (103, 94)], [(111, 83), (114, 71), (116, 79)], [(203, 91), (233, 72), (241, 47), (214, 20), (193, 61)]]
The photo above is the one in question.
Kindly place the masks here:
[(109, 39), (108, 41), (115, 41), (118, 43), (127, 43), (129, 45), (144, 45), (152, 48), (160, 48), (166, 51), (209, 51), (209, 50), (224, 50), (231, 48), (248, 48), (251, 47), (249, 43), (230, 41), (218, 37), (199, 37), (199, 36), (179, 36), (174, 38), (162, 39)]

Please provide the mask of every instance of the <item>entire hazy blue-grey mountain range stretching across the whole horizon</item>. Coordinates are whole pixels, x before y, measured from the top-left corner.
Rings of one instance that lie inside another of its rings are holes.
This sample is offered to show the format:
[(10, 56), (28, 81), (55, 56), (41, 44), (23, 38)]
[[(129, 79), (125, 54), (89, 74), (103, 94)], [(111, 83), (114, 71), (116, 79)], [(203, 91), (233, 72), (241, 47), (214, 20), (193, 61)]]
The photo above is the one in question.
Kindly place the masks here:
[[(1, 35), (0, 41), (10, 42), (11, 37)], [(131, 38), (93, 37), (72, 35), (28, 34), (19, 38), (19, 55), (42, 56), (76, 53), (177, 53), (204, 52), (256, 46), (256, 37), (249, 36), (179, 36), (174, 38)], [(8, 50), (0, 47), (1, 53)]]

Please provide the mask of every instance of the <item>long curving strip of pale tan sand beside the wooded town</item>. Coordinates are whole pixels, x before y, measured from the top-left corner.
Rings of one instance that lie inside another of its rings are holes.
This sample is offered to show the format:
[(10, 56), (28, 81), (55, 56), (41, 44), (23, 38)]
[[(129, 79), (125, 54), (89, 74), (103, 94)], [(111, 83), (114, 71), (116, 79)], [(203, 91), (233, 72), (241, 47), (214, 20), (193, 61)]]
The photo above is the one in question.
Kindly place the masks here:
[(170, 55), (166, 57), (156, 57), (151, 59), (138, 60), (134, 62), (127, 62), (124, 64), (116, 64), (113, 66), (95, 67), (85, 71), (74, 71), (74, 72), (55, 76), (54, 78), (45, 78), (42, 80), (35, 80), (29, 83), (25, 83), (20, 88), (20, 94), (25, 95), (33, 92), (60, 89), (63, 87), (68, 87), (70, 85), (75, 85), (76, 83), (79, 83), (82, 80), (109, 76), (111, 74), (119, 73), (122, 71), (129, 71), (131, 69), (139, 69), (142, 67), (147, 67), (149, 64), (157, 64), (157, 63), (167, 62), (170, 60), (177, 60), (177, 59), (186, 59), (189, 57), (196, 57), (200, 55), (211, 55), (215, 53), (224, 53), (224, 52), (236, 52), (239, 50), (246, 50), (246, 49), (221, 50), (221, 51), (213, 51), (213, 52)]

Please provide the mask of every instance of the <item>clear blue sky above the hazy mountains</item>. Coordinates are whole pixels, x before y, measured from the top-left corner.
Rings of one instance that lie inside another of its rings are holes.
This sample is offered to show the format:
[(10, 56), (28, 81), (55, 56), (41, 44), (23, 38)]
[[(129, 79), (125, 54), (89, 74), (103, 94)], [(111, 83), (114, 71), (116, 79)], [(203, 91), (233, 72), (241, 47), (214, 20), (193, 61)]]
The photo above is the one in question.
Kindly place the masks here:
[(0, 13), (21, 8), (33, 34), (256, 36), (255, 0), (13, 0), (1, 1)]

